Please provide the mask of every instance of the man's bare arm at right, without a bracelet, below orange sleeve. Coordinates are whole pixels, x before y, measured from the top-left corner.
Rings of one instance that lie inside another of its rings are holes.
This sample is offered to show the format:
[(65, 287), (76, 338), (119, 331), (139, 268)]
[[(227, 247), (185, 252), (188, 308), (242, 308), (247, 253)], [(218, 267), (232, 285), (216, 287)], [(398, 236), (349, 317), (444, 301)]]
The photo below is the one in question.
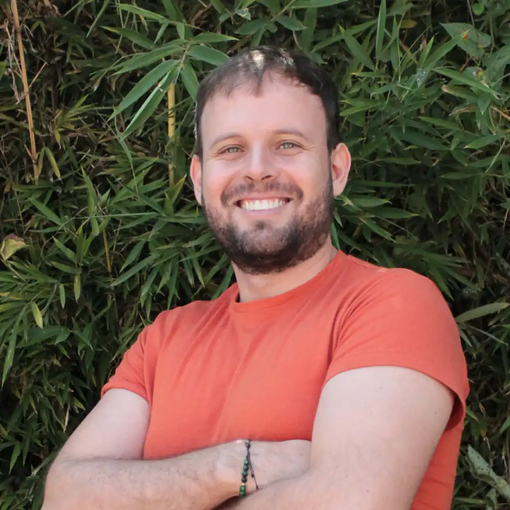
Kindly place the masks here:
[(439, 382), (409, 369), (339, 374), (319, 402), (310, 470), (222, 508), (408, 510), (453, 399)]

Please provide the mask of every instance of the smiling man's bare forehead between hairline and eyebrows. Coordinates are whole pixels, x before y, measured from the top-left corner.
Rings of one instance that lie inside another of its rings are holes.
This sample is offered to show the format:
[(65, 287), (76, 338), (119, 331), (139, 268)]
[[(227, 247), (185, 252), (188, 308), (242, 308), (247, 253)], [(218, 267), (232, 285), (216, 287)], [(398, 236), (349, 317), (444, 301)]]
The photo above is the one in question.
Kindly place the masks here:
[(265, 76), (259, 88), (245, 82), (232, 91), (215, 92), (202, 111), (200, 125), (204, 147), (225, 133), (249, 138), (294, 129), (313, 140), (326, 137), (320, 97), (306, 86), (277, 76)]

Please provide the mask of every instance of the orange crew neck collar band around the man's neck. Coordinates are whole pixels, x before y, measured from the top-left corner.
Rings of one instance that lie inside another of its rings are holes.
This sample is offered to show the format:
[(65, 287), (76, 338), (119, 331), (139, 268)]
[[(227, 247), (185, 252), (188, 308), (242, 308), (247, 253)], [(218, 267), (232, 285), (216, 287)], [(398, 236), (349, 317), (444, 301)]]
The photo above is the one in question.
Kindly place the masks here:
[(239, 302), (239, 287), (236, 283), (232, 286), (230, 309), (236, 314), (262, 310), (269, 311), (270, 309), (280, 307), (283, 304), (288, 304), (296, 299), (302, 299), (303, 297), (309, 296), (313, 292), (314, 288), (320, 286), (324, 279), (328, 278), (329, 274), (334, 272), (335, 268), (344, 262), (346, 257), (347, 255), (343, 251), (338, 250), (335, 257), (319, 273), (307, 282), (304, 282), (300, 286), (284, 292), (283, 294), (278, 294), (264, 299)]

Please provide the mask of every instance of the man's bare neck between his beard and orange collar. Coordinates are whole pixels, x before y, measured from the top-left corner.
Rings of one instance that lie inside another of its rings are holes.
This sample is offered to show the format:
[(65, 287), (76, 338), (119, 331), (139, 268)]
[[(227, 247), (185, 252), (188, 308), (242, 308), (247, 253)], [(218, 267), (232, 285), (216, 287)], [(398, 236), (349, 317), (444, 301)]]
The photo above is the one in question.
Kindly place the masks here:
[(276, 274), (247, 274), (234, 264), (241, 302), (265, 299), (289, 292), (311, 280), (333, 260), (337, 250), (328, 238), (313, 257)]

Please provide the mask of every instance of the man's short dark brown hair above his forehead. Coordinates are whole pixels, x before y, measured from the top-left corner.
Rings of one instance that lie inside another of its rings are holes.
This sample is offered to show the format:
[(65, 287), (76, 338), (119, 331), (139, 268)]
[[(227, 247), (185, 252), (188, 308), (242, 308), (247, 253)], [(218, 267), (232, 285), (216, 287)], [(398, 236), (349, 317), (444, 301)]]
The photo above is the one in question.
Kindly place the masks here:
[(309, 57), (294, 50), (272, 46), (250, 48), (211, 71), (198, 87), (195, 108), (195, 152), (202, 157), (200, 121), (209, 98), (216, 92), (230, 94), (243, 82), (253, 82), (259, 92), (264, 74), (275, 72), (307, 86), (318, 95), (326, 115), (327, 148), (333, 150), (339, 142), (340, 107), (338, 90), (329, 75)]

